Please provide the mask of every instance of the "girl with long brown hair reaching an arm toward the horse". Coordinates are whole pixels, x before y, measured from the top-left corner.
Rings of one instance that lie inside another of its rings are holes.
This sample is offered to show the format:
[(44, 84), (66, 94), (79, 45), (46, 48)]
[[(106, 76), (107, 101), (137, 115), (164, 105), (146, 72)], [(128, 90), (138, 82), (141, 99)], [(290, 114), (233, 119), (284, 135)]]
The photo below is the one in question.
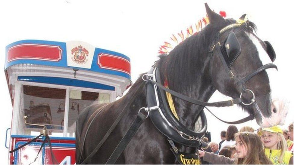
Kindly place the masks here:
[(231, 159), (224, 155), (216, 155), (199, 150), (199, 157), (212, 164), (272, 164), (263, 151), (259, 136), (251, 132), (235, 134), (237, 157)]

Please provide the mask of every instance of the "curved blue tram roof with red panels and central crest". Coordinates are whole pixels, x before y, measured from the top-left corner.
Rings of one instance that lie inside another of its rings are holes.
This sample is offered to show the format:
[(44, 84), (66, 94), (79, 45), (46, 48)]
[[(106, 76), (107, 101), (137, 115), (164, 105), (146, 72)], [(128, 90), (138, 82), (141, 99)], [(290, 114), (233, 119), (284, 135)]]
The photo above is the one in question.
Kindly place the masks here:
[(13, 42), (6, 46), (5, 72), (8, 85), (17, 79), (13, 75), (86, 79), (117, 88), (117, 96), (132, 84), (129, 57), (83, 41)]

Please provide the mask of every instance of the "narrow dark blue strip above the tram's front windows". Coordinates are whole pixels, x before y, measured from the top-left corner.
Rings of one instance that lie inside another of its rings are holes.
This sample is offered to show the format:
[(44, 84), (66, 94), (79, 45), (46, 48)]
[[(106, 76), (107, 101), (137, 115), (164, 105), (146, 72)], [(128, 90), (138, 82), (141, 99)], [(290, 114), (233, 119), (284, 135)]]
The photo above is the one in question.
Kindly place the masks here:
[(57, 85), (67, 85), (74, 87), (85, 87), (85, 88), (94, 88), (94, 89), (103, 89), (103, 90), (115, 90), (115, 87), (94, 83), (90, 81), (83, 81), (71, 78), (60, 78), (60, 77), (43, 77), (43, 76), (18, 76), (18, 81), (29, 81), (29, 82), (38, 82), (45, 84), (57, 84)]

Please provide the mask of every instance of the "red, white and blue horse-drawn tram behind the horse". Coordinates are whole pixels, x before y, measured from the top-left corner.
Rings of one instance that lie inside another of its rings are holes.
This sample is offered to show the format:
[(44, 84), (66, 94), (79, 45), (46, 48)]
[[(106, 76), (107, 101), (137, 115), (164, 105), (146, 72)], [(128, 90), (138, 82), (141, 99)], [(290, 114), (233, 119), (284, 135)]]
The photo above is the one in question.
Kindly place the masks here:
[(6, 47), (5, 60), (10, 164), (74, 164), (78, 115), (132, 84), (127, 56), (81, 41), (17, 41)]

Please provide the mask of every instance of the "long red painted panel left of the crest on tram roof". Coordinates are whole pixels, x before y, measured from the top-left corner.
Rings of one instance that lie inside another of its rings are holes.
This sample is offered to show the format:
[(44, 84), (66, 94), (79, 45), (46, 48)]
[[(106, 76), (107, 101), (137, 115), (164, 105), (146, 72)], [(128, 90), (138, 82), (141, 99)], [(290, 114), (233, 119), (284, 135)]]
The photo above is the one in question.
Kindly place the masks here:
[(46, 61), (59, 61), (62, 50), (59, 46), (42, 44), (20, 44), (9, 48), (8, 63), (19, 59), (33, 59)]

